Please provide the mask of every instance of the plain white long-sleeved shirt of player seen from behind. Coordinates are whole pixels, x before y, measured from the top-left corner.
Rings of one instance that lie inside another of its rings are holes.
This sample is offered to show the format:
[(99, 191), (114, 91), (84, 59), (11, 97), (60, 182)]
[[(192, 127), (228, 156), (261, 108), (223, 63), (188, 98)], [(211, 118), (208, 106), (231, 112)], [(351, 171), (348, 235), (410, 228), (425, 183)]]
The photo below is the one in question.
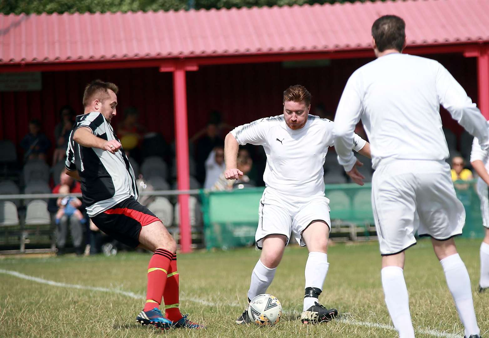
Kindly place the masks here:
[(335, 117), (335, 150), (346, 171), (355, 125), (362, 119), (371, 144), (372, 167), (386, 158), (448, 158), (440, 104), (489, 148), (486, 119), (439, 62), (391, 53), (358, 68), (341, 95)]

